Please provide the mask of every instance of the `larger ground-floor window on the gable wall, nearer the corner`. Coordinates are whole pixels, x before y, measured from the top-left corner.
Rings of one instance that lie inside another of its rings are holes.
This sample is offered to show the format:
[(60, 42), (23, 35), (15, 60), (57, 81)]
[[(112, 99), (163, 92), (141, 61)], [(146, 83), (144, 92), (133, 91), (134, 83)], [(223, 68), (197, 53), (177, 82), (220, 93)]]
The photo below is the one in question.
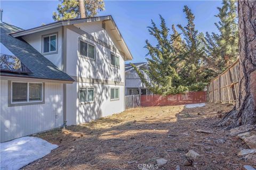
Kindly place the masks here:
[(94, 88), (79, 88), (79, 102), (80, 103), (87, 103), (94, 101)]

